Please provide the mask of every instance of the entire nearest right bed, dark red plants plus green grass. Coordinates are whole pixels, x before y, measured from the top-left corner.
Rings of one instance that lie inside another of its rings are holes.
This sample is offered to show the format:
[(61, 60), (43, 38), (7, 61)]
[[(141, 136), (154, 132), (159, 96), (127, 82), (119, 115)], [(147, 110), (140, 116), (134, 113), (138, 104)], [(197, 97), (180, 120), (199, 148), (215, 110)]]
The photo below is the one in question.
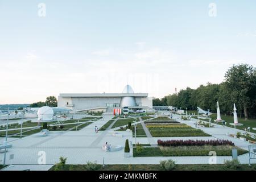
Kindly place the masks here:
[(158, 140), (158, 146), (143, 147), (137, 144), (133, 156), (209, 156), (210, 151), (216, 151), (217, 156), (231, 156), (234, 148), (238, 155), (247, 153), (228, 140)]

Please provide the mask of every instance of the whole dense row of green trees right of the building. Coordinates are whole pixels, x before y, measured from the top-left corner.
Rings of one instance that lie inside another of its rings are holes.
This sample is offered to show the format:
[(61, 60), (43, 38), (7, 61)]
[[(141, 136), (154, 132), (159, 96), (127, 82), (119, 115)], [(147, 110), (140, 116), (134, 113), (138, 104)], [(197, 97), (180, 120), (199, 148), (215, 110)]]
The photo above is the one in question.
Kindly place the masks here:
[(188, 110), (199, 106), (204, 110), (216, 112), (216, 102), (221, 112), (232, 114), (233, 103), (239, 114), (245, 118), (256, 114), (256, 68), (248, 64), (233, 65), (226, 73), (221, 84), (200, 85), (197, 89), (186, 88), (179, 93), (156, 99), (153, 105), (168, 105)]

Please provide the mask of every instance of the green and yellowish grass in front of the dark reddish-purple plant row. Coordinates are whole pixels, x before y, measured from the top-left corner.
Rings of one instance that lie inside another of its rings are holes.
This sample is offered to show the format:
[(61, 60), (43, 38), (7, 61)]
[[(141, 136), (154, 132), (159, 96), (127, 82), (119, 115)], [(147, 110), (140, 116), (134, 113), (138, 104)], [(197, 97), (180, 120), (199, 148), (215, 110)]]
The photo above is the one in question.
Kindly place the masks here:
[(143, 147), (141, 152), (137, 152), (134, 147), (133, 156), (209, 156), (210, 151), (216, 151), (217, 156), (232, 156), (232, 148), (237, 149), (238, 155), (247, 153), (236, 146)]

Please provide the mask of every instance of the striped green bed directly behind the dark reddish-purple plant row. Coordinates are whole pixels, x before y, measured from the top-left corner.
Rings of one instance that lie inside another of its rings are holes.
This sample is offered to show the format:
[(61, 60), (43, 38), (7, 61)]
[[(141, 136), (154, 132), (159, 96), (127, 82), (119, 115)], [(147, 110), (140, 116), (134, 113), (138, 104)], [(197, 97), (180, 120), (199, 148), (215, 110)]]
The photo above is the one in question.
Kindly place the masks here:
[(146, 125), (152, 137), (210, 137), (200, 129), (180, 125)]

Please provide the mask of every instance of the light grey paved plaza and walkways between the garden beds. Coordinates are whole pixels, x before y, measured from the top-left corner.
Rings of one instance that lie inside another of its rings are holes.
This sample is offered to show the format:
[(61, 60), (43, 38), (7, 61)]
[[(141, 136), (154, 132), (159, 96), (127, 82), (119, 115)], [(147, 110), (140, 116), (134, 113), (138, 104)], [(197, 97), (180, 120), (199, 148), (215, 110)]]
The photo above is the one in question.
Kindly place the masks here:
[[(20, 169), (26, 168), (24, 165), (31, 165), (31, 169), (40, 168), (42, 154), (46, 154), (46, 164), (49, 166), (42, 167), (42, 170), (47, 170), (51, 165), (59, 162), (60, 156), (67, 158), (67, 164), (86, 164), (86, 162), (97, 162), (98, 164), (159, 164), (160, 160), (173, 159), (177, 164), (208, 164), (210, 156), (175, 156), (175, 157), (137, 157), (125, 158), (123, 148), (119, 151), (105, 152), (102, 146), (108, 142), (112, 146), (124, 146), (125, 140), (129, 139), (135, 143), (135, 138), (132, 137), (131, 132), (117, 131), (123, 137), (114, 137), (112, 130), (94, 132), (94, 127), (100, 128), (106, 122), (113, 118), (113, 115), (105, 115), (104, 118), (84, 127), (80, 131), (50, 131), (46, 137), (40, 133), (30, 135), (24, 138), (8, 138), (12, 148), (9, 148), (6, 157), (6, 164), (15, 164), (14, 167), (5, 168), (15, 169), (17, 165)], [(174, 115), (174, 118), (181, 123), (186, 123), (189, 126), (195, 127), (195, 120), (182, 121), (180, 115)], [(142, 122), (142, 121), (141, 121)], [(161, 137), (154, 138), (150, 135), (144, 138), (137, 138), (139, 143), (156, 144), (158, 139), (228, 139), (236, 146), (248, 150), (249, 144), (236, 138), (230, 138), (226, 133), (235, 133), (236, 131), (230, 127), (216, 126), (212, 128), (201, 127), (205, 133), (212, 135), (212, 137)], [(147, 133), (148, 135), (148, 133)], [(4, 138), (0, 139), (3, 143)], [(133, 154), (133, 147), (130, 146), (130, 154)], [(14, 155), (14, 159), (10, 159), (10, 155)], [(230, 160), (232, 156), (217, 156), (217, 164), (224, 163), (224, 160)], [(249, 154), (238, 156), (241, 163), (249, 163)], [(252, 160), (256, 163), (256, 160)], [(0, 154), (0, 163), (3, 163), (3, 153)], [(28, 167), (28, 166), (27, 166)]]

